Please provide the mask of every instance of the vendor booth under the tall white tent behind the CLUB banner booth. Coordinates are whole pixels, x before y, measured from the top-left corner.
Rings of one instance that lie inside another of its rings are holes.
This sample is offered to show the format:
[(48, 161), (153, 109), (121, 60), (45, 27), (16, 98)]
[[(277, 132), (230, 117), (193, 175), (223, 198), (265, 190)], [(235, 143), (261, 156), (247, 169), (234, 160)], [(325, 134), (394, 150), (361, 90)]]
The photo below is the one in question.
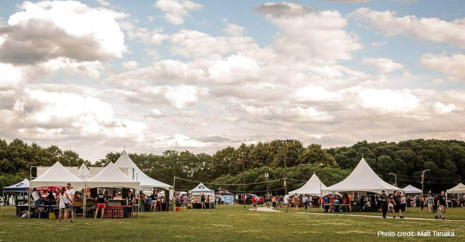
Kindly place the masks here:
[(160, 191), (161, 189), (166, 190), (167, 192), (164, 193), (164, 202), (162, 203), (161, 209), (162, 211), (170, 210), (170, 197), (172, 197), (173, 186), (147, 176), (142, 170), (140, 170), (138, 166), (136, 166), (126, 151), (123, 151), (118, 160), (116, 160), (115, 166), (121, 170), (127, 169), (127, 176), (136, 181), (139, 181), (140, 189), (143, 191), (151, 189), (153, 191)]

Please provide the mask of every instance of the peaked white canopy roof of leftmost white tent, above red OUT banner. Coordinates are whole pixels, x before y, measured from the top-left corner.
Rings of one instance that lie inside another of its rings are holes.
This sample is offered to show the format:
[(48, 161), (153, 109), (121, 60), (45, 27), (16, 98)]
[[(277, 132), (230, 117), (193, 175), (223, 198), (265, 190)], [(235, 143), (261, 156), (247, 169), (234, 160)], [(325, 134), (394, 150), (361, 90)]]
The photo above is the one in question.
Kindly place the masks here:
[(44, 174), (30, 181), (30, 187), (63, 186), (66, 183), (71, 183), (71, 186), (76, 189), (84, 188), (84, 181), (73, 175), (57, 161)]

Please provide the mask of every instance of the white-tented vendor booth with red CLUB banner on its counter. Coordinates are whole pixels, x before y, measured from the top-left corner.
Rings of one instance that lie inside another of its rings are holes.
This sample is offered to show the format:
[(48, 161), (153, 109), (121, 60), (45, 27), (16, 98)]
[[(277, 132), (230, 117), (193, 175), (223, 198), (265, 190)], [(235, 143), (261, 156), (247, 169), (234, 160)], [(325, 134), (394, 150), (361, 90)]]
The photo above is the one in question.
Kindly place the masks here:
[[(134, 189), (134, 196), (137, 198), (134, 204), (126, 204), (126, 196), (112, 197), (106, 202), (105, 218), (122, 218), (126, 217), (128, 212), (137, 212), (139, 215), (139, 198), (137, 194), (140, 190), (140, 182), (135, 181), (126, 176), (118, 167), (110, 162), (103, 168), (96, 176), (86, 181), (87, 188), (102, 188), (102, 187), (121, 187)], [(124, 193), (123, 193), (124, 194)], [(94, 198), (94, 197), (92, 197)], [(86, 199), (84, 206), (88, 206), (91, 213), (94, 213), (96, 208), (96, 201), (94, 199)], [(135, 208), (135, 209), (133, 209)], [(87, 210), (86, 210), (87, 211)], [(94, 215), (94, 214), (92, 214)]]

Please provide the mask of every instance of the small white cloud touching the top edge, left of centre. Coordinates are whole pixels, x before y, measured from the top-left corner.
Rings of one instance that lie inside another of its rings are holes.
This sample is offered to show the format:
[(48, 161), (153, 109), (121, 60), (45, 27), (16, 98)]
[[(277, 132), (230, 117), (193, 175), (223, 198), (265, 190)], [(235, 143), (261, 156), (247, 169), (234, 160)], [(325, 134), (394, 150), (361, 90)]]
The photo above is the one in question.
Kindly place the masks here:
[(157, 0), (154, 4), (156, 8), (165, 12), (165, 21), (175, 25), (184, 23), (184, 18), (190, 17), (189, 11), (202, 9), (202, 4), (194, 1), (184, 0)]

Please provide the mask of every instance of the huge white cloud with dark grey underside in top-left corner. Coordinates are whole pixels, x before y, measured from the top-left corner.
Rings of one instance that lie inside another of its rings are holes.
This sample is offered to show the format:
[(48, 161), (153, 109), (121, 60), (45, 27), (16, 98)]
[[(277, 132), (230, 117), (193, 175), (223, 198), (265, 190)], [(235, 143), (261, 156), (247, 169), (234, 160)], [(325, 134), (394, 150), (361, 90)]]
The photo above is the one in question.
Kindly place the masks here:
[(0, 34), (7, 36), (0, 61), (29, 64), (58, 57), (101, 61), (122, 58), (126, 52), (117, 23), (126, 17), (123, 13), (78, 1), (24, 1), (20, 10), (0, 28)]

